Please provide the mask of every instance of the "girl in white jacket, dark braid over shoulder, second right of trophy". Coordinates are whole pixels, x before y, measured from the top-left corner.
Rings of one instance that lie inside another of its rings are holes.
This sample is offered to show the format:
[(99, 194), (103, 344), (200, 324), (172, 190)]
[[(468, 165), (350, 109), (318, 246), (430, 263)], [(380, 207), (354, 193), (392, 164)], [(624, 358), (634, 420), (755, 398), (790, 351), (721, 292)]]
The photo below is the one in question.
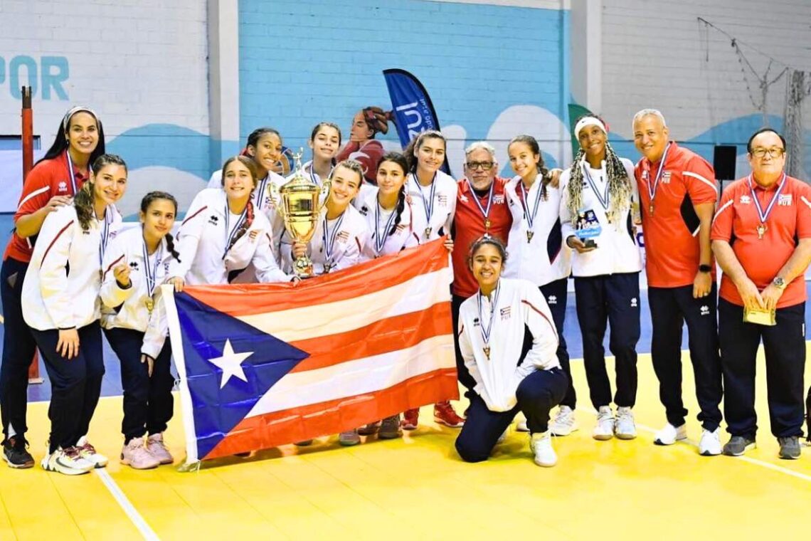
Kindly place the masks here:
[[(419, 246), (412, 224), (411, 205), (405, 200), (405, 178), (408, 162), (399, 152), (388, 152), (380, 158), (375, 185), (364, 184), (354, 199), (354, 206), (366, 217), (371, 231), (363, 253), (367, 259), (396, 254), (405, 248)], [(371, 423), (358, 429), (362, 436), (378, 431), (382, 440), (402, 436), (400, 415)]]

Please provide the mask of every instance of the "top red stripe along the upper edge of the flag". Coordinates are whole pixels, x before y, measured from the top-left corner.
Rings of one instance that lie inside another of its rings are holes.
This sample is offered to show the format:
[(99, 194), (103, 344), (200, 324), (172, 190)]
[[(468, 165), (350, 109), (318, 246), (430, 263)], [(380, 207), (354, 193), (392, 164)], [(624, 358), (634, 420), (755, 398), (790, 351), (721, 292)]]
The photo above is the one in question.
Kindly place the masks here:
[[(298, 284), (190, 286), (183, 291), (230, 316), (252, 316), (273, 311), (337, 303), (397, 286), (448, 266), (448, 250), (439, 238), (423, 246), (324, 274)], [(392, 260), (397, 260), (394, 264)], [(280, 294), (283, 293), (283, 294)]]

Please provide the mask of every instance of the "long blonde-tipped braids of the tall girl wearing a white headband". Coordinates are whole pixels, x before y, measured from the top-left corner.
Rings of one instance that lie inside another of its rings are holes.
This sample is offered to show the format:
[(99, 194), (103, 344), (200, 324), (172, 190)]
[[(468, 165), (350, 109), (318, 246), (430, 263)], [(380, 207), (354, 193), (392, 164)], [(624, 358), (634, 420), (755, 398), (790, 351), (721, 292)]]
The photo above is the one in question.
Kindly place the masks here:
[[(577, 118), (580, 122), (581, 118), (596, 118), (603, 126), (602, 118), (594, 116), (593, 114), (584, 114)], [(577, 122), (575, 122), (577, 124)], [(617, 224), (620, 219), (620, 214), (628, 209), (631, 205), (631, 179), (628, 178), (628, 171), (622, 165), (620, 157), (616, 155), (611, 144), (606, 139), (606, 175), (608, 177), (608, 198), (610, 203), (608, 205), (607, 217), (608, 221), (612, 224)], [(569, 179), (569, 212), (573, 216), (581, 212), (583, 208), (583, 167), (586, 166), (586, 151), (583, 148), (577, 151), (577, 156), (574, 157), (572, 162), (572, 176)]]

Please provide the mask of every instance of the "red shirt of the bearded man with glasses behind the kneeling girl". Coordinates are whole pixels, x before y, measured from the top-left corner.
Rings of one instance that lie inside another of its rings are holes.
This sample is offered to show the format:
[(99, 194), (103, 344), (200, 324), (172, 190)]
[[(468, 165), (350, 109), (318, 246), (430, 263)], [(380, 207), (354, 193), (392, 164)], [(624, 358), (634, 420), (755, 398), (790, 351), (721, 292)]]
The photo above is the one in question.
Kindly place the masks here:
[(474, 198), (487, 210), (487, 195), (478, 197), (470, 186), (467, 178), (459, 181), (457, 190), (457, 208), (453, 216), (453, 294), (461, 297), (470, 297), (478, 291), (478, 282), (470, 272), (467, 265), (470, 245), (489, 231), (505, 245), (509, 236), (509, 229), (513, 225), (513, 215), (509, 212), (507, 196), (504, 195), (504, 185), (507, 178), (496, 177), (493, 180), (493, 204), (487, 217), (490, 219), (489, 230), (484, 226), (484, 214), (478, 208)]

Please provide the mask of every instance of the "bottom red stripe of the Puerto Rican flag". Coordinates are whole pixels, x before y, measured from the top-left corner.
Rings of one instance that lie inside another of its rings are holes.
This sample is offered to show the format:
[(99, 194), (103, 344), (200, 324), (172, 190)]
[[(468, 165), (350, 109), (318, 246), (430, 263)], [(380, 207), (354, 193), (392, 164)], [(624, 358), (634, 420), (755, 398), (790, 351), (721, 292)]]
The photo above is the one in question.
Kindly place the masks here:
[[(272, 393), (272, 389), (270, 391)], [(201, 459), (227, 457), (269, 449), (295, 441), (337, 434), (399, 414), (409, 408), (459, 397), (455, 368), (441, 368), (414, 376), (375, 393), (301, 406), (243, 419), (228, 436)]]

